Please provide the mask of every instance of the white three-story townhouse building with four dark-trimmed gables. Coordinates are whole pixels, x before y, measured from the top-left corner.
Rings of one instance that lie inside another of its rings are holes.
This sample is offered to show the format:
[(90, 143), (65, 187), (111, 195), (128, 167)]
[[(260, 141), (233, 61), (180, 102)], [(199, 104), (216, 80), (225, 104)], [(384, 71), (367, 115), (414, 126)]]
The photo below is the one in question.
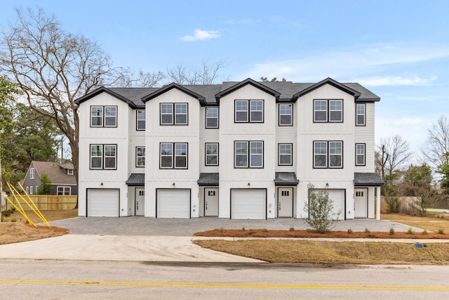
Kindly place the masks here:
[(379, 100), (330, 78), (102, 87), (75, 101), (79, 216), (304, 218), (312, 183), (380, 219)]

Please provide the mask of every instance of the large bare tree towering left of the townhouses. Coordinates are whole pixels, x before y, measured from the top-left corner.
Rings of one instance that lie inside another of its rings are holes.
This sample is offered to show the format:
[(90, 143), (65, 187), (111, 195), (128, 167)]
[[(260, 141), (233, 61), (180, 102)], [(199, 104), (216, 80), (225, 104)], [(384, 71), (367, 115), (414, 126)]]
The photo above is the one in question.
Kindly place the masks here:
[(74, 100), (129, 74), (114, 69), (95, 41), (62, 30), (54, 15), (47, 16), (41, 8), (16, 13), (15, 24), (1, 32), (0, 70), (25, 93), (30, 107), (58, 124), (69, 141), (78, 179), (79, 118)]

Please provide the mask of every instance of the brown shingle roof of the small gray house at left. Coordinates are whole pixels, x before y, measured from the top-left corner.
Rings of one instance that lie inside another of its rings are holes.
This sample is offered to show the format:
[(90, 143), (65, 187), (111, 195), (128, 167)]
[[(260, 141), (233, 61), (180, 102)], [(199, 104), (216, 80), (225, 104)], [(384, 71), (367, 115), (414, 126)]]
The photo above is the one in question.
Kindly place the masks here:
[(42, 174), (47, 174), (51, 184), (70, 184), (76, 185), (76, 177), (74, 175), (67, 175), (66, 169), (74, 169), (73, 164), (59, 164), (58, 162), (38, 162), (32, 161), (34, 169), (36, 169), (39, 177)]

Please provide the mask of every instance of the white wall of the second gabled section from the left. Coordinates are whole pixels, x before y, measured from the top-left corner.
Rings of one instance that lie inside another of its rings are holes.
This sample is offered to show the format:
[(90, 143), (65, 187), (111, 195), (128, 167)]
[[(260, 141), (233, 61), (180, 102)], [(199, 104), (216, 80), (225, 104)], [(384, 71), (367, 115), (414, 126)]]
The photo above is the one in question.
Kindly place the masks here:
[[(163, 125), (160, 122), (160, 103), (188, 103), (188, 125)], [(156, 189), (187, 188), (191, 190), (191, 216), (199, 216), (199, 151), (200, 103), (196, 98), (170, 89), (145, 103), (147, 128), (145, 131), (145, 216), (156, 216)], [(159, 169), (160, 143), (188, 143), (188, 169)], [(175, 186), (173, 186), (175, 183)]]

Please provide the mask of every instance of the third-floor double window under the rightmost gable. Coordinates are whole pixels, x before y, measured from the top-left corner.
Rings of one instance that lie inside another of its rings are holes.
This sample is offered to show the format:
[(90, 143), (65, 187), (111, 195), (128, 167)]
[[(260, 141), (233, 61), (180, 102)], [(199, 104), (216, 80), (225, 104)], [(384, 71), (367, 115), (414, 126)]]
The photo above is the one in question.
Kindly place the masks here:
[(343, 100), (315, 99), (314, 122), (343, 122)]

